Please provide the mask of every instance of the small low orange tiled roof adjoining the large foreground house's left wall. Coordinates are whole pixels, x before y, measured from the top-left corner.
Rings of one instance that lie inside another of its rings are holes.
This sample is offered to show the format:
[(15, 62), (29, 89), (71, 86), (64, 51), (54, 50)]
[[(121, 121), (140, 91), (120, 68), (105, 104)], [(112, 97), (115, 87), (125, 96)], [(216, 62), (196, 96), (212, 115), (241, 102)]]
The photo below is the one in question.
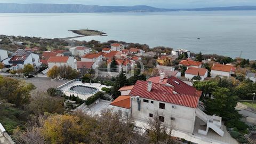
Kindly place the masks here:
[(111, 102), (110, 105), (130, 109), (131, 108), (131, 97), (130, 97), (130, 95), (120, 95), (113, 102)]

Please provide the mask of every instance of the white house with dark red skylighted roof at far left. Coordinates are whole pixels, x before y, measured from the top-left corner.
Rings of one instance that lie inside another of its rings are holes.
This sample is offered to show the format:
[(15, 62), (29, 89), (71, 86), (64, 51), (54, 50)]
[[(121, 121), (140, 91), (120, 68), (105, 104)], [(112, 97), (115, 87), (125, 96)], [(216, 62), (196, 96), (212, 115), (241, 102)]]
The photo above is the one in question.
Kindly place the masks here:
[(23, 69), (24, 65), (31, 64), (35, 69), (42, 67), (42, 63), (39, 60), (39, 55), (37, 53), (26, 51), (26, 50), (17, 50), (12, 57), (2, 60), (5, 65), (11, 65), (11, 69)]

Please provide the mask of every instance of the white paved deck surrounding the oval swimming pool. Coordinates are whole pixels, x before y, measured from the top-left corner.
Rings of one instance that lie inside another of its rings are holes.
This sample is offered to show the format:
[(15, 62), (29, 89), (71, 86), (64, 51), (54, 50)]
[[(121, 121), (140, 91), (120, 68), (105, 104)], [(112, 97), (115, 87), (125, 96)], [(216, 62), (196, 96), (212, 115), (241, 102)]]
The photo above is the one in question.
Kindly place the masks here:
[(66, 95), (72, 95), (74, 94), (75, 96), (77, 96), (78, 98), (82, 99), (82, 100), (86, 100), (87, 98), (91, 97), (93, 94), (81, 94), (81, 93), (76, 93), (74, 91), (69, 91), (70, 87), (72, 86), (75, 86), (75, 85), (83, 85), (83, 86), (89, 86), (89, 87), (94, 87), (94, 88), (97, 88), (99, 91), (102, 91), (102, 87), (107, 87), (107, 88), (110, 88), (110, 86), (106, 86), (106, 85), (101, 85), (99, 83), (82, 83), (80, 81), (75, 81), (74, 83), (71, 83), (65, 87), (63, 87), (61, 89), (61, 91), (63, 91), (64, 94)]

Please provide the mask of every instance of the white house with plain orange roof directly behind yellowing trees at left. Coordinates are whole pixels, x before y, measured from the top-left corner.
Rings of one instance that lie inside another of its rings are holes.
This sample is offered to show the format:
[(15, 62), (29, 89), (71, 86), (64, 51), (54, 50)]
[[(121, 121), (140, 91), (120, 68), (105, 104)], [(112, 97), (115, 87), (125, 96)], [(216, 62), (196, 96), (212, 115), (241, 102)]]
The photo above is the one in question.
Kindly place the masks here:
[(51, 69), (53, 66), (70, 66), (73, 69), (77, 69), (77, 63), (74, 57), (50, 57), (47, 63), (48, 69)]

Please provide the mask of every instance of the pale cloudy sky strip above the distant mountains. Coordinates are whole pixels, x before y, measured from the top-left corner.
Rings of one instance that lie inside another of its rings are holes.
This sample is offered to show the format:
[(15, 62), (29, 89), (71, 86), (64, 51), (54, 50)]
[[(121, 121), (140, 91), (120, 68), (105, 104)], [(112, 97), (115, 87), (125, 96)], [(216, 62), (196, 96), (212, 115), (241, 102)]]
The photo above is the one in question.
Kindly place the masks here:
[(256, 5), (256, 0), (0, 0), (0, 3), (74, 3), (87, 5), (149, 5), (162, 8), (195, 8)]

